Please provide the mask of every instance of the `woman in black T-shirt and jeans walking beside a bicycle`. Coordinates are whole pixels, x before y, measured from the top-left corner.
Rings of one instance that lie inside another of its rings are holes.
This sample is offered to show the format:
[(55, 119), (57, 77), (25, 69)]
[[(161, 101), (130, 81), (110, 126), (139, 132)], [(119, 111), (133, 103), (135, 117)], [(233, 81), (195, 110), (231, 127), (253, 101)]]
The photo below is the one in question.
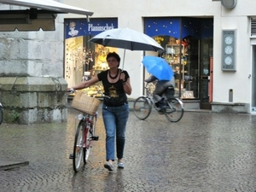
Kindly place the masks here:
[(107, 62), (109, 69), (98, 73), (89, 81), (84, 81), (70, 89), (80, 90), (102, 81), (104, 87), (104, 101), (102, 104), (102, 116), (106, 130), (106, 160), (104, 167), (113, 171), (113, 161), (116, 154), (118, 168), (124, 168), (123, 156), (125, 149), (125, 127), (129, 117), (127, 95), (131, 95), (130, 76), (126, 71), (119, 69), (120, 57), (115, 52), (108, 53)]

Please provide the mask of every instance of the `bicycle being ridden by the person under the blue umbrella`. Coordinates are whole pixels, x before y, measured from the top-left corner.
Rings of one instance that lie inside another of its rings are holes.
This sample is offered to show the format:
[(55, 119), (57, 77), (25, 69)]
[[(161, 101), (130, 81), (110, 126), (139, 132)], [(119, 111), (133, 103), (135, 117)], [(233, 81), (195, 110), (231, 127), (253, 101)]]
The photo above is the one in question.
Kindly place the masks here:
[[(142, 120), (148, 118), (152, 111), (152, 105), (157, 111), (160, 110), (160, 108), (154, 104), (154, 98), (152, 94), (154, 90), (154, 84), (146, 84), (145, 89), (146, 96), (139, 96), (133, 104), (133, 111), (135, 116)], [(183, 117), (183, 102), (173, 95), (173, 87), (168, 87), (163, 94), (164, 102), (166, 102), (166, 112), (164, 114), (166, 115), (166, 119), (169, 121), (177, 122)]]

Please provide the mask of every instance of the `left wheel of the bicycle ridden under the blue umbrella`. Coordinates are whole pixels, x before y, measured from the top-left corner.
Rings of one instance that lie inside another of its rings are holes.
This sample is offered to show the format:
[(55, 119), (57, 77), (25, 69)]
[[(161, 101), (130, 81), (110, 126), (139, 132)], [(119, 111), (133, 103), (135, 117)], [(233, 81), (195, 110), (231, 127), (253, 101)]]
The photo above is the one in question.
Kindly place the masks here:
[(133, 104), (133, 111), (137, 119), (147, 119), (152, 110), (152, 104), (145, 96), (138, 97)]

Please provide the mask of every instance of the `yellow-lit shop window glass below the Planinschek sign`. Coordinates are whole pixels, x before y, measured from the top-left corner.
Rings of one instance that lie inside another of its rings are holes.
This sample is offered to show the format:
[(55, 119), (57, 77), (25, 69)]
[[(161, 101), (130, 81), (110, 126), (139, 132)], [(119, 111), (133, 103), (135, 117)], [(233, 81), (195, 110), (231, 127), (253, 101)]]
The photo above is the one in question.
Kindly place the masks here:
[[(65, 78), (70, 86), (89, 80), (97, 73), (108, 69), (106, 57), (109, 52), (117, 52), (116, 48), (104, 47), (100, 44), (91, 44), (88, 47), (86, 37), (79, 36), (66, 40), (65, 50)], [(73, 84), (73, 85), (71, 85)], [(101, 96), (103, 91), (102, 82), (98, 82), (83, 90), (89, 96)]]

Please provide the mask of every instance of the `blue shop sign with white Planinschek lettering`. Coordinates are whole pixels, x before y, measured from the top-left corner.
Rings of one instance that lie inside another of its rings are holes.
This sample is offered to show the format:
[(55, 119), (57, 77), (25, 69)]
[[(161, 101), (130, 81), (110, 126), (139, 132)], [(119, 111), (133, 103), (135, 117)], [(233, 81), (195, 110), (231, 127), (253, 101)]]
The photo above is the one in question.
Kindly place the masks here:
[(118, 28), (117, 18), (94, 19), (90, 22), (87, 19), (66, 19), (65, 38), (73, 38), (78, 36), (95, 36), (100, 32), (104, 32), (113, 28)]

